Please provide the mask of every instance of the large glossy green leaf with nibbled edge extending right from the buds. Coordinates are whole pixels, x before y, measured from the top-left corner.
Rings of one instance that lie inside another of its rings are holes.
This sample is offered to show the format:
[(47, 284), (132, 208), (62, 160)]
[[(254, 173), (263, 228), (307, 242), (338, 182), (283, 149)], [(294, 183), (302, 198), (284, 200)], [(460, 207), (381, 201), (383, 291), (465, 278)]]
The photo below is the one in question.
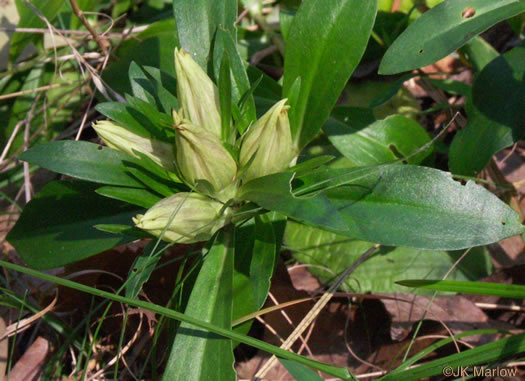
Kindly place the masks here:
[[(458, 250), (521, 234), (518, 214), (485, 188), (413, 165), (317, 170), (294, 195), (325, 190), (341, 234), (383, 245)], [(344, 186), (343, 186), (344, 185)]]

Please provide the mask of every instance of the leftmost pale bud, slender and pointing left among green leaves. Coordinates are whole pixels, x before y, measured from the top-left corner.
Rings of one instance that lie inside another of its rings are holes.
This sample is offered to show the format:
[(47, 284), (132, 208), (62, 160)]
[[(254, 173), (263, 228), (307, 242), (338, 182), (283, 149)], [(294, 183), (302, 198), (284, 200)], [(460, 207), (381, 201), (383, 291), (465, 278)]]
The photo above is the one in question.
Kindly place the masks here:
[(93, 123), (93, 128), (108, 147), (137, 158), (139, 157), (133, 151), (140, 152), (161, 167), (174, 171), (175, 154), (172, 144), (137, 135), (109, 120)]

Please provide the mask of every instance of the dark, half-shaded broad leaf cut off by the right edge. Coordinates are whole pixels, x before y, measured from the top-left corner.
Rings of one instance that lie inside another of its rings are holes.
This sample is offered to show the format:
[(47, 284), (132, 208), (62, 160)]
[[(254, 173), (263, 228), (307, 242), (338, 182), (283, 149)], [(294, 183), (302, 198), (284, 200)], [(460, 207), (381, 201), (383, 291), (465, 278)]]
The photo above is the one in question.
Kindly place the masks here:
[(525, 46), (486, 65), (472, 88), (469, 122), (450, 146), (453, 173), (473, 176), (490, 158), (525, 136)]

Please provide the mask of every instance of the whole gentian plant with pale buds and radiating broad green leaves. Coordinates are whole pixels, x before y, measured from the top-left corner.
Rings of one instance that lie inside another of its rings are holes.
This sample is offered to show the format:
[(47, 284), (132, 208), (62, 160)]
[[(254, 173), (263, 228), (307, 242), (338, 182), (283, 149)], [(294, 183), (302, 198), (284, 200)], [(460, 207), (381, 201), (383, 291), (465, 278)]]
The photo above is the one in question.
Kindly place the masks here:
[[(482, 186), (421, 165), (432, 141), (416, 122), (372, 121), (415, 128), (419, 135), (392, 150), (356, 129), (352, 110), (334, 111), (377, 1), (304, 1), (283, 29), (279, 83), (241, 58), (236, 1), (180, 0), (174, 10), (175, 78), (131, 63), (125, 102), (97, 105), (109, 119), (93, 124), (105, 146), (56, 141), (19, 156), (67, 176), (44, 187), (8, 236), (27, 265), (55, 268), (145, 239), (126, 282), (126, 296), (137, 298), (167, 247), (203, 242), (190, 296), (177, 308), (232, 330), (234, 319), (264, 304), (290, 221), (428, 250), (525, 232), (518, 214)], [(307, 154), (322, 129), (352, 166)], [(164, 379), (235, 379), (232, 340), (193, 331), (178, 327)]]

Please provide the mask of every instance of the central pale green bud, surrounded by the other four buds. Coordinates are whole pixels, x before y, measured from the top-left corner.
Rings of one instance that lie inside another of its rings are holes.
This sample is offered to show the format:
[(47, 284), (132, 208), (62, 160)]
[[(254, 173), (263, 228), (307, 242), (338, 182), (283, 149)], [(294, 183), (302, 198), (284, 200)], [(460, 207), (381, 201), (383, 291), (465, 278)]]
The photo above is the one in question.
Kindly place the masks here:
[(183, 123), (175, 127), (175, 143), (175, 162), (189, 185), (196, 186), (199, 180), (205, 180), (218, 194), (235, 180), (237, 164), (214, 134)]

